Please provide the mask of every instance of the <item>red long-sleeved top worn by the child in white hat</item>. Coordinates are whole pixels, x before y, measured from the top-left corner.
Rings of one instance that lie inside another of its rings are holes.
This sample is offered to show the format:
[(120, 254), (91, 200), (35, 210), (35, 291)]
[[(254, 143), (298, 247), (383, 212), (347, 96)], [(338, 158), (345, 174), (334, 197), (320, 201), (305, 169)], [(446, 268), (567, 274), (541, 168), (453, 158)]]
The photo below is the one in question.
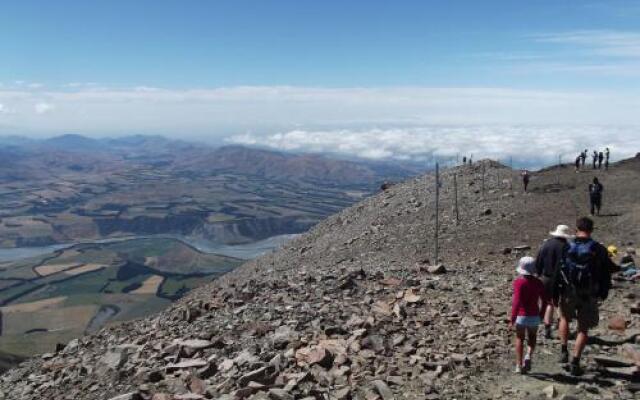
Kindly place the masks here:
[(515, 323), (518, 316), (543, 317), (546, 308), (544, 285), (538, 278), (519, 276), (513, 281), (511, 323)]

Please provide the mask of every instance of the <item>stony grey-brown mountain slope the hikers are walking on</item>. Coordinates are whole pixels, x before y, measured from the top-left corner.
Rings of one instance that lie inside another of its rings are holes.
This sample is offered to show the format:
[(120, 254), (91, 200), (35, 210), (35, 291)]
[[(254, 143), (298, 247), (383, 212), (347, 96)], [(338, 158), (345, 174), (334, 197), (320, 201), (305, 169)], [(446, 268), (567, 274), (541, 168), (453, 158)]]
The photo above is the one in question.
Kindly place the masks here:
[[(556, 341), (543, 341), (537, 374), (511, 372), (506, 320), (515, 261), (534, 252), (556, 224), (572, 224), (586, 212), (585, 185), (593, 173), (545, 170), (533, 176), (528, 194), (516, 172), (492, 162), (442, 175), (440, 260), (433, 259), (434, 179), (411, 180), (157, 316), (103, 329), (23, 363), (0, 379), (0, 398), (637, 396), (637, 367), (628, 357), (637, 355), (640, 318), (632, 311), (638, 311), (640, 290), (627, 281), (616, 281), (603, 307), (584, 378), (570, 378), (554, 363)], [(640, 159), (598, 175), (606, 216), (596, 221), (597, 238), (624, 247), (637, 243)], [(626, 331), (613, 336), (607, 321), (617, 314)], [(597, 368), (605, 355), (624, 368)]]

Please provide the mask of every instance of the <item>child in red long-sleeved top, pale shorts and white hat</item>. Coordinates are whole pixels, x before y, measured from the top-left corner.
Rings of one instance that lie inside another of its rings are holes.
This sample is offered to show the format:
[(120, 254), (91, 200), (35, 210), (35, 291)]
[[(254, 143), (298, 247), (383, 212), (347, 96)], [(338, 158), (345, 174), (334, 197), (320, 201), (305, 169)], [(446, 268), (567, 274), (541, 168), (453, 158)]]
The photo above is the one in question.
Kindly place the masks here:
[[(544, 286), (535, 277), (535, 259), (522, 257), (516, 269), (518, 277), (513, 281), (511, 320), (509, 326), (516, 331), (516, 373), (531, 370), (531, 356), (536, 348), (540, 313), (544, 308)], [(527, 354), (523, 357), (524, 342)]]

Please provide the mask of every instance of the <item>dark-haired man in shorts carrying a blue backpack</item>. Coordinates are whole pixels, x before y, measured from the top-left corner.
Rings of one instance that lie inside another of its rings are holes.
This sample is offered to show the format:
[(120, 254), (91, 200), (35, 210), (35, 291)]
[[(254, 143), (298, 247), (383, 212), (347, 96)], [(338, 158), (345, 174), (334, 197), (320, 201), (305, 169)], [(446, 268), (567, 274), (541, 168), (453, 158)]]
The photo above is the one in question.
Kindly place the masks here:
[(607, 249), (591, 238), (593, 220), (588, 217), (576, 221), (576, 237), (569, 245), (560, 268), (560, 362), (569, 362), (569, 325), (578, 321), (578, 334), (569, 364), (571, 375), (582, 374), (580, 357), (587, 345), (589, 329), (598, 326), (598, 301), (604, 301), (611, 288), (613, 262)]

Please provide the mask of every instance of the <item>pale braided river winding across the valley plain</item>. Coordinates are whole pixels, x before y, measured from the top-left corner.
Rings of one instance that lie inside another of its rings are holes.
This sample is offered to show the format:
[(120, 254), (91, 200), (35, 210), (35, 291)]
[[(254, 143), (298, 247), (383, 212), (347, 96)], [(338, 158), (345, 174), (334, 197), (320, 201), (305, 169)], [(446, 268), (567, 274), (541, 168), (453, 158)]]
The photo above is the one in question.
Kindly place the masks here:
[(128, 236), (121, 238), (98, 239), (93, 241), (82, 241), (66, 244), (54, 244), (49, 246), (17, 247), (10, 249), (0, 249), (0, 263), (20, 261), (31, 257), (43, 256), (54, 253), (58, 250), (68, 249), (79, 244), (106, 244), (128, 240), (139, 239), (175, 239), (202, 253), (220, 254), (228, 257), (250, 260), (262, 254), (278, 249), (284, 243), (298, 236), (297, 234), (277, 235), (268, 239), (259, 240), (253, 243), (228, 245), (215, 243), (204, 239), (192, 238), (181, 235), (153, 235), (153, 236)]

